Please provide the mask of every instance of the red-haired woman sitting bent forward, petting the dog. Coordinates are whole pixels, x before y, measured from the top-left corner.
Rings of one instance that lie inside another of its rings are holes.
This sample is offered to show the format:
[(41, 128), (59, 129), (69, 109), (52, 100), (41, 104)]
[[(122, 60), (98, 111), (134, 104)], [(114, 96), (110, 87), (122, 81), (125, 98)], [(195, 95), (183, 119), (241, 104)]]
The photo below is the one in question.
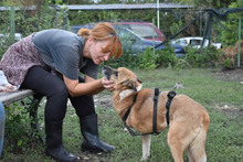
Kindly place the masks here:
[[(84, 141), (82, 151), (110, 152), (114, 147), (98, 136), (97, 115), (92, 95), (113, 90), (114, 83), (97, 78), (98, 65), (122, 55), (122, 43), (109, 23), (98, 23), (78, 35), (63, 30), (45, 30), (17, 42), (1, 62), (8, 82), (46, 96), (45, 153), (57, 161), (75, 161), (62, 142), (67, 98), (80, 117)], [(83, 73), (83, 77), (80, 76)]]

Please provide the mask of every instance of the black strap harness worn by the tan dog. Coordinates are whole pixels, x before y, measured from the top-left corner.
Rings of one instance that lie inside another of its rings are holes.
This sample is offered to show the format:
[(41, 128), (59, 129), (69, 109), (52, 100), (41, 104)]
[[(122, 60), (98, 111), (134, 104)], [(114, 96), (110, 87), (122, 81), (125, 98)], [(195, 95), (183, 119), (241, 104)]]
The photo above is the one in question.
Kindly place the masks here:
[[(169, 91), (167, 97), (167, 104), (166, 104), (166, 108), (167, 108), (167, 114), (166, 114), (166, 119), (167, 119), (167, 125), (169, 126), (170, 119), (169, 119), (169, 112), (170, 112), (170, 105), (171, 101), (173, 99), (173, 97), (176, 96), (176, 91)], [(159, 134), (159, 132), (157, 131), (157, 107), (158, 107), (158, 98), (159, 98), (159, 89), (155, 88), (155, 95), (154, 95), (154, 116), (152, 116), (152, 132), (150, 133), (136, 133), (134, 132), (127, 125), (126, 125), (126, 120), (130, 114), (130, 110), (133, 108), (133, 106), (135, 105), (136, 100), (137, 100), (137, 94), (134, 97), (133, 100), (133, 105), (127, 109), (125, 116), (123, 117), (123, 122), (125, 125), (125, 127), (127, 128), (127, 130), (129, 131), (129, 133), (134, 137), (134, 136), (146, 136), (146, 134)]]

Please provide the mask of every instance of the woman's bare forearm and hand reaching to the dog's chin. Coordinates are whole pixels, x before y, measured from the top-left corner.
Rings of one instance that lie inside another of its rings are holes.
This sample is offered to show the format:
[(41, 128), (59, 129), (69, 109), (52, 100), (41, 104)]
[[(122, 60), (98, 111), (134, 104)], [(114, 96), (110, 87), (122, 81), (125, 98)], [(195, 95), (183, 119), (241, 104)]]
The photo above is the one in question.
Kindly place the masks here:
[(78, 83), (78, 80), (72, 80), (63, 76), (64, 83), (71, 94), (71, 96), (81, 96), (81, 95), (95, 95), (101, 93), (104, 89), (114, 90), (114, 82), (108, 80), (105, 77), (101, 79), (94, 79), (85, 75), (85, 83)]

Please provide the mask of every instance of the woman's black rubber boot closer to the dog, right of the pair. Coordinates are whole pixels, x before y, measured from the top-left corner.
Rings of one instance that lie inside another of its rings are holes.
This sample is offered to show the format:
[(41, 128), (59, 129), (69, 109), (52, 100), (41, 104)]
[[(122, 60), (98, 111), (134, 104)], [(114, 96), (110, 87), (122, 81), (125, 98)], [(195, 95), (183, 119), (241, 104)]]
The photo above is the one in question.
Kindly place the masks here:
[(104, 143), (98, 136), (97, 115), (86, 116), (81, 119), (81, 132), (84, 141), (82, 151), (110, 152), (115, 147)]

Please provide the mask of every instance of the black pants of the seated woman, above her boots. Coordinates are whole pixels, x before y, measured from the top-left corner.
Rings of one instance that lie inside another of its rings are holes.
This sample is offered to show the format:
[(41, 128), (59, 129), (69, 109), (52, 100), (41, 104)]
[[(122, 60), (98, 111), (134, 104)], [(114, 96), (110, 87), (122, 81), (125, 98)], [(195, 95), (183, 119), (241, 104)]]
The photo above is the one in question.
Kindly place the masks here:
[[(80, 77), (80, 83), (84, 83), (82, 77)], [(67, 98), (80, 118), (95, 114), (93, 96), (71, 97), (63, 79), (41, 66), (33, 66), (29, 69), (21, 88), (33, 89), (46, 96), (44, 116), (47, 122), (60, 122), (64, 119)]]

